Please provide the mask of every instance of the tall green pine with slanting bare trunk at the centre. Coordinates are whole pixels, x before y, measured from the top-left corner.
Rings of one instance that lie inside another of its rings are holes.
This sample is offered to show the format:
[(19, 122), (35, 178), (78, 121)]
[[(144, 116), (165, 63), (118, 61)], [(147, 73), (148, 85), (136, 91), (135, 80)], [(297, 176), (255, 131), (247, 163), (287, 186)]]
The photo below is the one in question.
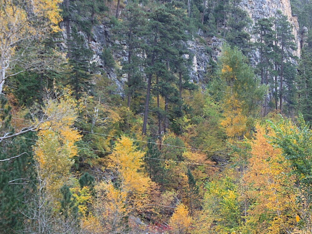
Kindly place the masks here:
[[(145, 69), (148, 76), (147, 95), (144, 111), (143, 134), (147, 130), (147, 117), (149, 110), (150, 91), (152, 89), (152, 79), (156, 76), (156, 90), (158, 95), (165, 99), (164, 110), (164, 132), (169, 127), (169, 103), (177, 104), (180, 100), (177, 98), (176, 76), (173, 74), (175, 65), (180, 56), (181, 43), (187, 40), (185, 33), (186, 14), (183, 11), (182, 2), (168, 2), (163, 5), (155, 6), (155, 9), (149, 15), (149, 24), (146, 31), (151, 34), (146, 52), (148, 54), (147, 65)], [(159, 98), (158, 98), (159, 100)], [(158, 116), (159, 118), (159, 116)], [(160, 128), (160, 125), (158, 126)], [(161, 131), (159, 131), (161, 132)]]

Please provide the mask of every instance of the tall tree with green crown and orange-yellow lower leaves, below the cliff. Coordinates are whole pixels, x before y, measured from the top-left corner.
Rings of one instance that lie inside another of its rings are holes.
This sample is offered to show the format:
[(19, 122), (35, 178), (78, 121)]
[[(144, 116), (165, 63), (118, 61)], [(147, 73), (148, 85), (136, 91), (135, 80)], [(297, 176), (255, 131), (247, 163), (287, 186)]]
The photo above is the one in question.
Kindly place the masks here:
[[(251, 136), (253, 118), (259, 110), (264, 87), (259, 86), (255, 74), (246, 62), (246, 57), (237, 48), (222, 47), (220, 56), (220, 85), (224, 120), (221, 125), (232, 140)], [(232, 143), (232, 142), (231, 142)]]

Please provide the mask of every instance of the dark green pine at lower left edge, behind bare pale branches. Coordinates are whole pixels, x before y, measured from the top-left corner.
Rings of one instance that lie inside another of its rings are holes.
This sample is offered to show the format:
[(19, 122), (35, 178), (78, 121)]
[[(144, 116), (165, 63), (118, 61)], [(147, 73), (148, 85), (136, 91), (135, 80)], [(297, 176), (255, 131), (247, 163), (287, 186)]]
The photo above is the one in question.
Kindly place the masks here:
[[(10, 114), (11, 107), (1, 95), (0, 102), (0, 134), (13, 132)], [(27, 209), (25, 201), (31, 197), (35, 178), (32, 144), (35, 140), (33, 133), (27, 133), (10, 141), (0, 142), (0, 233), (12, 233), (24, 228), (24, 216), (21, 211)], [(27, 138), (27, 139), (23, 139)], [(29, 140), (28, 140), (29, 139)], [(23, 154), (22, 154), (23, 153)], [(2, 161), (10, 157), (22, 154), (17, 158)]]

